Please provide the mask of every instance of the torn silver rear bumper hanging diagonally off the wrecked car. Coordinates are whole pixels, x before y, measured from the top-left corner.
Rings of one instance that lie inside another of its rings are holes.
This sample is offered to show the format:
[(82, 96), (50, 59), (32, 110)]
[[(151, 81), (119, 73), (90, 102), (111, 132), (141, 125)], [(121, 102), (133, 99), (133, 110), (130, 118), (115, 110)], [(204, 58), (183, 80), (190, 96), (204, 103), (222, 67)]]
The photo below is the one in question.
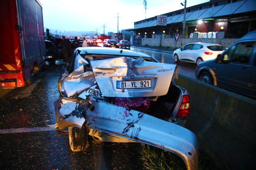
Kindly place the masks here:
[(88, 96), (87, 99), (60, 98), (55, 101), (60, 129), (86, 125), (87, 128), (168, 150), (180, 156), (188, 170), (198, 169), (198, 142), (190, 130), (98, 98)]

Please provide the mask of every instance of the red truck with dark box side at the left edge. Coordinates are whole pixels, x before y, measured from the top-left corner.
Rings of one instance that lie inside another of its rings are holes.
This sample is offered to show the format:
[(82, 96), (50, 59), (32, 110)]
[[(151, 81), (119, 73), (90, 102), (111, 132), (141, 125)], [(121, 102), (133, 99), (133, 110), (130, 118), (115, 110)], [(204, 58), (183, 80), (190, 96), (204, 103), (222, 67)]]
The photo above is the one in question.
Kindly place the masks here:
[(38, 0), (0, 0), (0, 88), (30, 85), (45, 61), (42, 5)]

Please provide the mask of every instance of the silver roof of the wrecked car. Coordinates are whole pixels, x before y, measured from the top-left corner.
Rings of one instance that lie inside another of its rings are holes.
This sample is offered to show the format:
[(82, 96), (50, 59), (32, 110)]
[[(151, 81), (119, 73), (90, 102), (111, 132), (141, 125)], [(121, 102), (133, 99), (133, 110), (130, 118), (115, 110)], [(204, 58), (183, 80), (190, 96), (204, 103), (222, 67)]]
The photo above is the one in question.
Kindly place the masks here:
[(120, 56), (135, 56), (135, 57), (151, 58), (150, 55), (147, 55), (145, 53), (131, 51), (128, 49), (107, 48), (107, 47), (78, 47), (76, 50), (82, 51), (82, 49), (85, 49), (86, 53), (94, 54), (94, 55), (120, 55)]

